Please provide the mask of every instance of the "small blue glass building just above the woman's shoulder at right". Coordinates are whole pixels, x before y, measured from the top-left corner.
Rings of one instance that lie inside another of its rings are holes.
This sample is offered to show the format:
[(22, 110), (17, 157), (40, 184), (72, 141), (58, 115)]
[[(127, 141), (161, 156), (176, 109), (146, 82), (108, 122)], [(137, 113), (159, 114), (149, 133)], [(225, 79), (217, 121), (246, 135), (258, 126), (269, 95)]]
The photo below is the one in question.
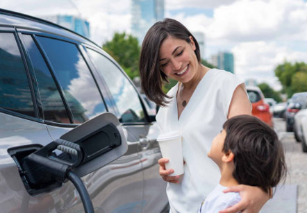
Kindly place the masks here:
[(219, 52), (217, 55), (211, 56), (210, 62), (218, 69), (224, 69), (226, 71), (230, 71), (233, 74), (235, 73), (233, 65), (233, 53)]

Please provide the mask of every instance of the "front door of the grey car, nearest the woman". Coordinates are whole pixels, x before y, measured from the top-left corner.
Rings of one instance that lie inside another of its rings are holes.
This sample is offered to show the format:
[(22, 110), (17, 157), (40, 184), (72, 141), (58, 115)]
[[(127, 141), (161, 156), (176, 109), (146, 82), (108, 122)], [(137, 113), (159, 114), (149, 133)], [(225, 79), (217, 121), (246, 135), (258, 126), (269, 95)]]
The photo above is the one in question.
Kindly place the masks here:
[(159, 133), (156, 122), (150, 123), (142, 99), (131, 80), (103, 53), (86, 48), (101, 81), (108, 85), (117, 117), (128, 134), (128, 144), (139, 148), (144, 185), (142, 212), (160, 212), (167, 205), (166, 182), (158, 174), (161, 157), (156, 142)]

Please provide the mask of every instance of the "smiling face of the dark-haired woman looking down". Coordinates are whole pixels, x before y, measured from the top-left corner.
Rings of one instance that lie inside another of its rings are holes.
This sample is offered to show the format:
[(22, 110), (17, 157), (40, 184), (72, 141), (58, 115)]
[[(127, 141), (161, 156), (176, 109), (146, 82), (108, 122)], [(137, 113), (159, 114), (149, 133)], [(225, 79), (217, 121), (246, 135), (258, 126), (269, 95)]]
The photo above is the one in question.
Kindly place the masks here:
[(191, 42), (168, 36), (160, 46), (160, 69), (167, 77), (188, 83), (201, 69), (194, 53), (195, 43), (190, 36)]

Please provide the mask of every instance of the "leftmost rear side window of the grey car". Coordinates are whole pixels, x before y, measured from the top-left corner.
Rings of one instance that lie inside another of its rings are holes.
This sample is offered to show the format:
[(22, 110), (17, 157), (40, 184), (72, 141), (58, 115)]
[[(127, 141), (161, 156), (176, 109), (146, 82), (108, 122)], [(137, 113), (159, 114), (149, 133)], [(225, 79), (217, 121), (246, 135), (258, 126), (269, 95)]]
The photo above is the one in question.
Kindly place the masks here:
[(24, 62), (13, 33), (0, 33), (0, 107), (34, 117)]

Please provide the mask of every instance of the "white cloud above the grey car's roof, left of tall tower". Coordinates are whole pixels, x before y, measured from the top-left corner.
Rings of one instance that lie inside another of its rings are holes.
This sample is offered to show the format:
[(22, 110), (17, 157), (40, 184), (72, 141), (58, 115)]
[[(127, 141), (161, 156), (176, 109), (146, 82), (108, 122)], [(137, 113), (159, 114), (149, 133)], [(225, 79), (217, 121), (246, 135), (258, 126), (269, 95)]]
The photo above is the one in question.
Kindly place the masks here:
[(90, 22), (90, 38), (99, 44), (110, 40), (115, 31), (130, 32), (131, 1), (1, 0), (0, 8), (36, 17), (80, 15)]

